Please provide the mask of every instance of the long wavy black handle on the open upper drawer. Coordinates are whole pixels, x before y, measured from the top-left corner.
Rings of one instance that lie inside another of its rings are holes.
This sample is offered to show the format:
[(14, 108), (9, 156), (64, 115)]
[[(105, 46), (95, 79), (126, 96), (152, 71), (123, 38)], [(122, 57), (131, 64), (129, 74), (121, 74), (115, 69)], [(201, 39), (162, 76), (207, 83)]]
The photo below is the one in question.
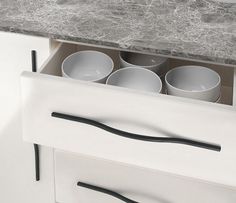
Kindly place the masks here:
[(147, 142), (177, 143), (177, 144), (190, 145), (193, 147), (199, 147), (199, 148), (204, 148), (204, 149), (218, 151), (218, 152), (221, 151), (221, 146), (215, 145), (212, 143), (201, 142), (201, 141), (185, 139), (185, 138), (178, 138), (178, 137), (152, 137), (152, 136), (129, 133), (129, 132), (125, 132), (116, 128), (112, 128), (110, 126), (107, 126), (103, 123), (99, 123), (91, 119), (82, 118), (78, 116), (72, 116), (72, 115), (58, 113), (58, 112), (53, 112), (51, 116), (65, 119), (65, 120), (76, 121), (76, 122), (84, 123), (87, 125), (92, 125), (94, 127), (103, 129), (107, 132), (119, 135), (121, 137), (130, 138), (130, 139), (142, 140), (142, 141), (147, 141)]

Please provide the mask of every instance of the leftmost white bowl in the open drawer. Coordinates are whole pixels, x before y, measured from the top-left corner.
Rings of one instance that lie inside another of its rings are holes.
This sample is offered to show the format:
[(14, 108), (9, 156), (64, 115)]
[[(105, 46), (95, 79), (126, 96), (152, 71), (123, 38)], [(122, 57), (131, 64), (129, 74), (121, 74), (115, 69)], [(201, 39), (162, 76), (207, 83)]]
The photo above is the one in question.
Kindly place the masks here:
[(62, 76), (77, 80), (105, 83), (112, 72), (112, 59), (98, 51), (79, 51), (62, 63)]

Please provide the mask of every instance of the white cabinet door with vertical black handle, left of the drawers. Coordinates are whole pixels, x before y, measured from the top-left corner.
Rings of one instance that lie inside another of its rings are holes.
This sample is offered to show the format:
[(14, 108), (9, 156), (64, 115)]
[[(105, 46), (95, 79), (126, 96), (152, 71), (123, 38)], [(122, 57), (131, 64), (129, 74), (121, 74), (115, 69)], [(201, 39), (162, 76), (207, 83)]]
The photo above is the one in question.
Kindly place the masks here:
[(20, 73), (49, 55), (49, 40), (0, 32), (0, 202), (52, 203), (53, 153), (41, 148), (41, 181), (35, 182), (34, 151), (21, 135)]

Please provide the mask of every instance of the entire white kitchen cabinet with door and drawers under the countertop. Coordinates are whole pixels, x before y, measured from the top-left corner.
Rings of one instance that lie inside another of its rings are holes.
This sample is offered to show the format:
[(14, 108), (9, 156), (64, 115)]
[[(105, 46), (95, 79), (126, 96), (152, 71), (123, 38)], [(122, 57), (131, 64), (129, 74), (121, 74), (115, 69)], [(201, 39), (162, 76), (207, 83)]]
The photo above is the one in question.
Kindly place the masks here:
[[(0, 43), (0, 202), (120, 202), (78, 187), (78, 181), (138, 202), (236, 201), (233, 68), (212, 66), (222, 73), (224, 84), (223, 104), (214, 104), (62, 78), (63, 59), (91, 47), (58, 43), (49, 56), (45, 38), (0, 33)], [(31, 72), (32, 49), (38, 53), (38, 73)], [(99, 50), (119, 65), (118, 51)], [(27, 144), (21, 140), (21, 107)], [(104, 125), (173, 139), (134, 139)], [(42, 145), (39, 182), (34, 180), (32, 143)], [(53, 148), (75, 154), (57, 151), (54, 157)]]

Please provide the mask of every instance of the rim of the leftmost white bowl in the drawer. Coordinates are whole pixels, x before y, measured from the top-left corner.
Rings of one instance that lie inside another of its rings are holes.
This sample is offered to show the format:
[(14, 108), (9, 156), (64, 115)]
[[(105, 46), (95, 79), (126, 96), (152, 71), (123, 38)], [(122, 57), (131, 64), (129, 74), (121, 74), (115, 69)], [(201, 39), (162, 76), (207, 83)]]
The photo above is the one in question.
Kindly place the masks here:
[[(97, 54), (100, 54), (100, 55), (103, 55), (103, 56), (107, 57), (107, 58), (111, 61), (111, 68), (110, 68), (110, 70), (108, 71), (108, 73), (105, 74), (104, 76), (102, 76), (102, 77), (100, 77), (100, 78), (97, 78), (97, 79), (94, 79), (94, 80), (82, 80), (82, 79), (76, 79), (76, 78), (73, 78), (73, 77), (69, 76), (69, 75), (64, 71), (64, 64), (65, 64), (65, 62), (66, 62), (69, 58), (74, 57), (75, 55), (79, 55), (79, 54), (81, 54), (81, 53), (86, 53), (86, 52), (87, 52), (87, 53), (91, 53), (91, 52), (92, 52), (92, 53), (97, 53)], [(100, 81), (100, 80), (106, 78), (107, 76), (109, 76), (109, 75), (112, 73), (113, 69), (114, 69), (114, 61), (112, 60), (112, 58), (111, 58), (110, 56), (108, 56), (107, 54), (103, 53), (103, 52), (95, 51), (95, 50), (82, 50), (82, 51), (74, 52), (73, 54), (70, 54), (69, 56), (67, 56), (67, 57), (63, 60), (63, 62), (62, 62), (62, 64), (61, 64), (61, 71), (62, 71), (62, 74), (64, 74), (66, 77), (71, 78), (71, 79), (74, 79), (74, 80), (81, 80), (81, 81), (87, 81), (87, 82)]]

